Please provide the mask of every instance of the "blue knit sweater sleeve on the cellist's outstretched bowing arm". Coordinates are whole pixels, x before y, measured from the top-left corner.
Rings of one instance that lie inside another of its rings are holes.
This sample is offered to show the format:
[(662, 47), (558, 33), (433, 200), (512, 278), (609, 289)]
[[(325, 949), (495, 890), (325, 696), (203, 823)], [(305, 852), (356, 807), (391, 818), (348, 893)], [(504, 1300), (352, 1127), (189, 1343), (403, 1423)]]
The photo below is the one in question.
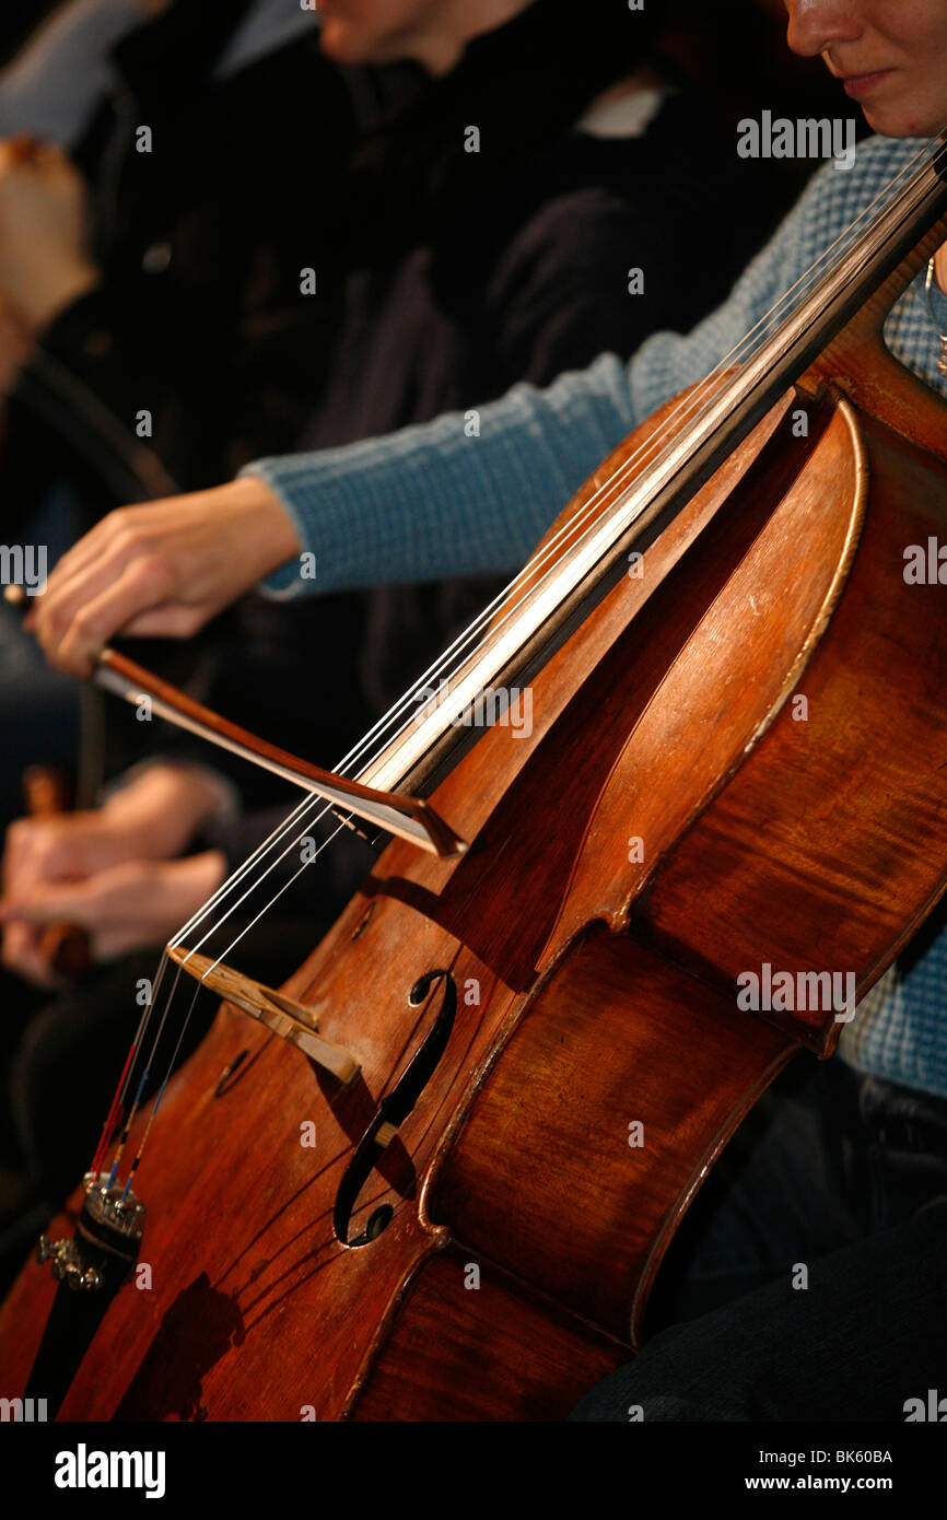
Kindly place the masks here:
[[(862, 150), (859, 161), (871, 166), (871, 155)], [(307, 578), (290, 561), (263, 593), (295, 599), (518, 568), (611, 448), (669, 397), (717, 363), (736, 362), (757, 322), (772, 325), (774, 309), (778, 316), (783, 298), (831, 243), (839, 213), (866, 205), (874, 188), (871, 172), (839, 175), (827, 164), (728, 299), (687, 336), (655, 333), (628, 363), (603, 354), (546, 389), (517, 385), (479, 410), (248, 465), (243, 474), (271, 486), (302, 549), (316, 556), (315, 576), (312, 561)]]

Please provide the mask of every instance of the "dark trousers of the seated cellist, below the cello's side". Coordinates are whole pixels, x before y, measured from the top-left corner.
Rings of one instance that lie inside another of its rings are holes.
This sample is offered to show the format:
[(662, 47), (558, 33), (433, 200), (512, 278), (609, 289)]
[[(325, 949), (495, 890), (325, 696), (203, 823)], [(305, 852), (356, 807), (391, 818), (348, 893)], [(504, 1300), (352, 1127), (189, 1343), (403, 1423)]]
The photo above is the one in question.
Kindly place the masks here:
[(657, 1333), (572, 1418), (903, 1421), (947, 1395), (945, 1283), (947, 1102), (807, 1062), (683, 1225)]

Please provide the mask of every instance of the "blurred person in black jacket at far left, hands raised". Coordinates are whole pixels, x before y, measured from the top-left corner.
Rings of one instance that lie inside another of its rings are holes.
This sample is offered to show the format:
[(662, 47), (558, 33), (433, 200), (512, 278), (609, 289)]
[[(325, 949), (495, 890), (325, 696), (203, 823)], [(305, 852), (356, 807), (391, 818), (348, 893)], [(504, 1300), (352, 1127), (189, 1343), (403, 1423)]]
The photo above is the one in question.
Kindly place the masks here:
[[(161, 479), (292, 447), (337, 312), (342, 166), (374, 109), (287, 0), (71, 0), (40, 27), (0, 76), (8, 544), (52, 565)], [(302, 175), (318, 193), (296, 205)], [(313, 248), (319, 302), (299, 290)], [(0, 711), (9, 819), (24, 765), (76, 763), (79, 714), (8, 614)]]

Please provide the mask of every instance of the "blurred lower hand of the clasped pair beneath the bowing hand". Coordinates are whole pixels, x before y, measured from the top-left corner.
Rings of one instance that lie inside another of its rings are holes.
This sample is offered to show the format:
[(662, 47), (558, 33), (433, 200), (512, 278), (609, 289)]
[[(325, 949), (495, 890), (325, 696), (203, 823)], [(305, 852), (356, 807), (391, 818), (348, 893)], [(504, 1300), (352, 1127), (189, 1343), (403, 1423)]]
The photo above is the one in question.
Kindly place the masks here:
[(126, 860), (81, 882), (35, 882), (8, 892), (0, 900), (3, 964), (36, 986), (62, 985), (40, 948), (41, 929), (58, 923), (88, 930), (96, 962), (163, 945), (225, 874), (225, 856), (205, 850), (184, 860)]

